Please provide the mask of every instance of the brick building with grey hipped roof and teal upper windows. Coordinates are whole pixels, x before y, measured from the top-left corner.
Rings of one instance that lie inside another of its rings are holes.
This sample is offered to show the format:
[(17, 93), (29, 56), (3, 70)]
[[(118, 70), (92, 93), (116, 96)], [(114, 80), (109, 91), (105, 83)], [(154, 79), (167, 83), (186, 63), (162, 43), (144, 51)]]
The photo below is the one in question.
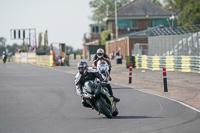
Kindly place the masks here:
[(115, 12), (104, 19), (113, 39), (106, 43), (106, 53), (109, 55), (120, 50), (122, 57), (130, 56), (134, 54), (136, 44), (142, 44), (144, 50), (148, 49), (148, 36), (135, 36), (137, 35), (135, 32), (160, 25), (176, 27), (175, 16), (178, 13), (178, 11), (163, 9), (146, 0), (135, 0), (128, 3), (117, 10), (117, 26), (115, 25)]

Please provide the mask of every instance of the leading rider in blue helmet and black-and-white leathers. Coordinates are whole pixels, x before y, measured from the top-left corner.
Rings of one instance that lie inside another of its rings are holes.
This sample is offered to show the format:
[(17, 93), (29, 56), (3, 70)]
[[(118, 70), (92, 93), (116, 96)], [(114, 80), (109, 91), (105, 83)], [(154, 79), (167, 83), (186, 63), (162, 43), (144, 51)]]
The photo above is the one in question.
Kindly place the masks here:
[[(102, 75), (96, 69), (88, 68), (88, 65), (85, 61), (79, 62), (77, 67), (79, 72), (75, 76), (76, 93), (81, 97), (83, 94), (83, 86), (86, 81), (95, 80), (98, 78), (100, 81), (104, 82)], [(119, 102), (120, 99), (113, 96), (110, 84), (105, 84), (105, 87), (108, 88), (109, 94), (113, 97), (114, 101)], [(82, 99), (82, 104), (84, 107), (90, 107), (90, 105), (85, 102), (85, 99)]]

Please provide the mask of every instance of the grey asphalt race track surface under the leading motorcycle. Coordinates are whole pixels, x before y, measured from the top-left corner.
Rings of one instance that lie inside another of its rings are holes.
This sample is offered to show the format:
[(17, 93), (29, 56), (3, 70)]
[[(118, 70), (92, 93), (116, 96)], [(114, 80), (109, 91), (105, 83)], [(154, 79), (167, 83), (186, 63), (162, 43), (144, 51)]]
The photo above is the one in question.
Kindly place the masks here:
[(177, 102), (112, 85), (119, 115), (81, 105), (74, 74), (0, 63), (0, 133), (199, 133), (200, 113)]

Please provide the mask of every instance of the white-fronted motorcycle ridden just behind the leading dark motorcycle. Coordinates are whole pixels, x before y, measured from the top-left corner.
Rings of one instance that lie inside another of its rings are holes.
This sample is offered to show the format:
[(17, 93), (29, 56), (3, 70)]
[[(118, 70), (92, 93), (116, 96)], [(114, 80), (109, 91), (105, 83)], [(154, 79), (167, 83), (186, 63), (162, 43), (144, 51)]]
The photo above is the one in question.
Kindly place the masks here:
[(104, 76), (104, 80), (109, 80), (109, 66), (105, 60), (97, 62), (97, 71)]

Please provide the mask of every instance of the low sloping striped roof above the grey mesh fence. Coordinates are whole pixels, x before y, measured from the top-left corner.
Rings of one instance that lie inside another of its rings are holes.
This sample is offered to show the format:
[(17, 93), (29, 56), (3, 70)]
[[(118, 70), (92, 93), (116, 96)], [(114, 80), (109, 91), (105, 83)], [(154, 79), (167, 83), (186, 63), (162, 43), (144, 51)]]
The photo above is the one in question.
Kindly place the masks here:
[(178, 27), (178, 28), (156, 26), (156, 27), (149, 28), (147, 30), (124, 34), (124, 35), (119, 36), (119, 38), (131, 37), (131, 36), (147, 37), (147, 36), (160, 36), (160, 35), (181, 35), (181, 34), (187, 34), (187, 33), (194, 33), (197, 31), (200, 31), (200, 25)]

